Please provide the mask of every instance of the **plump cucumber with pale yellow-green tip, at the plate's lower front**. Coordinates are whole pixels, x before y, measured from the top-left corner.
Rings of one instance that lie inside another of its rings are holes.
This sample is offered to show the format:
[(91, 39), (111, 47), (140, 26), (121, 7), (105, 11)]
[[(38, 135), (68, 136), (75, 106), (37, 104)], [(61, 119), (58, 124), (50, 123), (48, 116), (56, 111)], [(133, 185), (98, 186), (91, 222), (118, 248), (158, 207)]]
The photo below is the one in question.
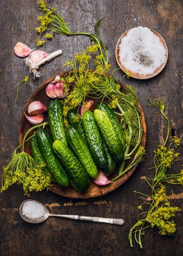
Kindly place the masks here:
[(78, 191), (86, 191), (90, 186), (90, 176), (73, 152), (60, 140), (53, 143), (53, 150), (68, 172), (70, 185)]

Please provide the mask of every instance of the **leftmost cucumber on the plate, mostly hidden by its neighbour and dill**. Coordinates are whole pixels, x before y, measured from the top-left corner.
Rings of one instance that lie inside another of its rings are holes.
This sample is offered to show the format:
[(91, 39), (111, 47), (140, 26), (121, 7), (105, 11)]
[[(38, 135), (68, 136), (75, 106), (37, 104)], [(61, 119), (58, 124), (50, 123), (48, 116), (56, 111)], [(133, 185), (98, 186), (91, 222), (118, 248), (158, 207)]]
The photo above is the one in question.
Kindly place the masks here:
[[(35, 162), (37, 163), (37, 165), (41, 165), (42, 162), (45, 162), (43, 157), (42, 157), (41, 151), (39, 150), (37, 140), (36, 140), (36, 136), (34, 136), (30, 139), (29, 145), (30, 145), (30, 148), (31, 148), (32, 156), (33, 156)], [(45, 176), (48, 176), (49, 174), (51, 174), (46, 166), (44, 166), (42, 168), (42, 170), (43, 170)], [(53, 177), (51, 177), (51, 180), (56, 183), (56, 180)]]

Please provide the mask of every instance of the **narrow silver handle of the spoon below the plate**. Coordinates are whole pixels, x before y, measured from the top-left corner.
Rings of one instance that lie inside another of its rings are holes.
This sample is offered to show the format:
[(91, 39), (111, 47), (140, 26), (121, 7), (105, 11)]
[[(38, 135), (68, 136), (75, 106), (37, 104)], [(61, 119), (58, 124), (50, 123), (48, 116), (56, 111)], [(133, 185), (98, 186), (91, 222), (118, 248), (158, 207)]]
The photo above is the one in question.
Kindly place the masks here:
[(49, 216), (61, 217), (61, 218), (71, 218), (75, 220), (81, 221), (95, 221), (95, 222), (103, 222), (108, 224), (116, 224), (116, 225), (123, 225), (123, 219), (116, 219), (116, 218), (101, 218), (101, 217), (90, 217), (90, 216), (80, 216), (80, 215), (64, 215), (64, 214), (49, 214)]

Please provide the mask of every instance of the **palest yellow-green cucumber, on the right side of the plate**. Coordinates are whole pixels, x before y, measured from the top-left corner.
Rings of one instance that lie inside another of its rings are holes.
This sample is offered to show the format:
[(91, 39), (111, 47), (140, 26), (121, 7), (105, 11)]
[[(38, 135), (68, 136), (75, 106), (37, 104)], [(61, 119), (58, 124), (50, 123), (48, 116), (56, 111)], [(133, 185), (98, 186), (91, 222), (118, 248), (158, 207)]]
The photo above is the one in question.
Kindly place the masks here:
[(124, 150), (121, 140), (115, 132), (112, 122), (104, 111), (96, 109), (94, 111), (94, 117), (99, 126), (101, 134), (104, 136), (104, 140), (110, 151), (111, 157), (115, 162), (121, 162), (124, 159)]

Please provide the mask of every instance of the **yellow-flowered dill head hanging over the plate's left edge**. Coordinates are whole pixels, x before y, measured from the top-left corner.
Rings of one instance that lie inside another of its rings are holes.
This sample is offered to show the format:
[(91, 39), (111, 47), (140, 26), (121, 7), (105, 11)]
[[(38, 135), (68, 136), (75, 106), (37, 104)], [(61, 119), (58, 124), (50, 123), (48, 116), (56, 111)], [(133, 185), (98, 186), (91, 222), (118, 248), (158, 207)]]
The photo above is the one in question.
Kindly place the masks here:
[[(44, 122), (40, 125), (35, 125), (26, 132), (23, 138), (22, 152), (17, 154), (17, 148), (20, 146), (17, 147), (14, 150), (8, 165), (3, 167), (4, 173), (2, 177), (1, 192), (8, 189), (8, 187), (14, 183), (17, 183), (23, 188), (25, 195), (28, 193), (28, 191), (41, 191), (42, 189), (48, 189), (51, 186), (51, 175), (45, 176), (42, 170), (45, 166), (45, 163), (37, 165), (34, 159), (24, 151), (24, 145), (27, 141), (26, 138), (28, 134), (33, 129), (40, 126), (44, 127), (47, 124), (48, 122)], [(29, 137), (28, 140), (31, 137)]]

